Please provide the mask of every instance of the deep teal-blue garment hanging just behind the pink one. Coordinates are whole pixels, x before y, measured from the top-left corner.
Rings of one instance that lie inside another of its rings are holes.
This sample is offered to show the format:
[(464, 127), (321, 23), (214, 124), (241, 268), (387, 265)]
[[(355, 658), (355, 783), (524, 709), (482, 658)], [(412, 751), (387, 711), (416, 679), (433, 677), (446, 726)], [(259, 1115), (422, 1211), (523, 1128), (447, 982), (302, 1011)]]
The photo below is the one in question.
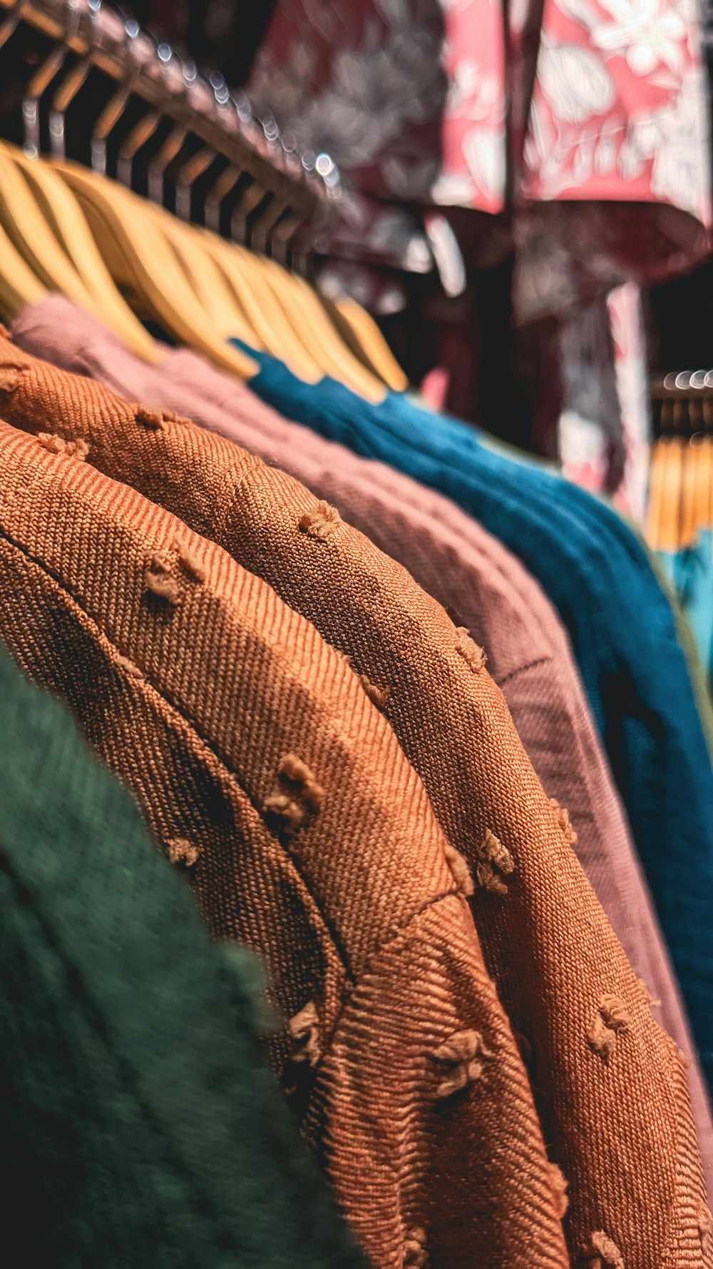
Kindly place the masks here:
[(250, 353), (261, 367), (250, 386), (264, 401), (453, 499), (549, 595), (570, 633), (713, 1086), (713, 770), (676, 621), (646, 548), (603, 503), (488, 449), (455, 419), (396, 393), (374, 406), (332, 379), (306, 385), (275, 358)]

